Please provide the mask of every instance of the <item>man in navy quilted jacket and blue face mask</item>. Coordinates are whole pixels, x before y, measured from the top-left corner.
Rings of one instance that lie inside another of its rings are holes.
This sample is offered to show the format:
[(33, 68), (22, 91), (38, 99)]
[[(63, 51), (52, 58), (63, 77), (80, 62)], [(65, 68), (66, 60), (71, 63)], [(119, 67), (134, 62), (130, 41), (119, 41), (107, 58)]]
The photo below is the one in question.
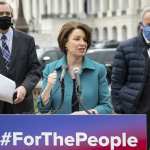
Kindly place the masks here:
[[(116, 113), (146, 114), (150, 145), (150, 7), (143, 9), (139, 34), (122, 42), (114, 57), (111, 94)], [(147, 148), (147, 149), (148, 149)]]

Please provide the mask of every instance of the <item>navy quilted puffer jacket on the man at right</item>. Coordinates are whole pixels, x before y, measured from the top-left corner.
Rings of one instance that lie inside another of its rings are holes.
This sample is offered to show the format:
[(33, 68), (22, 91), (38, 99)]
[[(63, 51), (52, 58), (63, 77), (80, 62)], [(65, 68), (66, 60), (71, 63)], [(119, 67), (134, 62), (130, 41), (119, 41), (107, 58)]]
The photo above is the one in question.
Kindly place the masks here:
[(142, 35), (122, 42), (112, 69), (112, 102), (118, 113), (136, 113), (147, 76), (147, 50)]

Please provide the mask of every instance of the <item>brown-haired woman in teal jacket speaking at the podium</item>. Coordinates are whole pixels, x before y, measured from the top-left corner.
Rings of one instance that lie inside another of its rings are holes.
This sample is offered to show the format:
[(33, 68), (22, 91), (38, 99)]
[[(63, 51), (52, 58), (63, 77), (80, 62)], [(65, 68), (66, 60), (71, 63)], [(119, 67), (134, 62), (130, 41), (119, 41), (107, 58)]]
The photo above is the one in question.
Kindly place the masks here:
[[(39, 111), (86, 115), (112, 113), (106, 69), (85, 56), (91, 44), (91, 28), (80, 22), (67, 22), (58, 35), (58, 44), (65, 56), (46, 65)], [(65, 67), (64, 67), (65, 66)], [(61, 76), (64, 74), (64, 101), (61, 105)], [(80, 80), (80, 100), (76, 92), (76, 74)], [(61, 107), (59, 107), (61, 105)]]

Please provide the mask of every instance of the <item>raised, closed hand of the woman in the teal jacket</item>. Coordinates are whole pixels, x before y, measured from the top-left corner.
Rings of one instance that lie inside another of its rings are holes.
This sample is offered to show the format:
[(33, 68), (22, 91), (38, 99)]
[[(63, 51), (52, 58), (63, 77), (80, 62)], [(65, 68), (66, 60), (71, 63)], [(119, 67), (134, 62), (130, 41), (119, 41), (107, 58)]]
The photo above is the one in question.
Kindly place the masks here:
[(48, 79), (47, 79), (48, 86), (53, 86), (56, 82), (56, 79), (57, 79), (57, 72), (55, 70), (48, 75)]

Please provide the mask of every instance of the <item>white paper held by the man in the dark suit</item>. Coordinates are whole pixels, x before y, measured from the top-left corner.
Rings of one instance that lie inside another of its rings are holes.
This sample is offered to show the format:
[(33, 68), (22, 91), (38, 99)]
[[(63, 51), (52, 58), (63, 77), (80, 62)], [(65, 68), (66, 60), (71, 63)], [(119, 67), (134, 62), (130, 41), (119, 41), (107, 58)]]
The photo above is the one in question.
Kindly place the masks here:
[(0, 74), (0, 101), (13, 104), (13, 95), (15, 93), (16, 83)]

